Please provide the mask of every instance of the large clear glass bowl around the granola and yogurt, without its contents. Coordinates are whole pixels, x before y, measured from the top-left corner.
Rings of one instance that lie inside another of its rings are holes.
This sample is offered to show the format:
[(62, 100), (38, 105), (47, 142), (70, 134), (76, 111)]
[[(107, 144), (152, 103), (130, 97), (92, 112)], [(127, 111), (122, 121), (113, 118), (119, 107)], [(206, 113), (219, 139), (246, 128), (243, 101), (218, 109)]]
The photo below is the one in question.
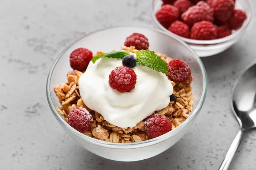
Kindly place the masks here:
[[(195, 99), (194, 109), (189, 118), (174, 130), (143, 142), (135, 143), (111, 143), (88, 137), (73, 129), (63, 117), (57, 112), (60, 106), (53, 88), (63, 82), (67, 82), (67, 72), (71, 71), (69, 63), (70, 53), (79, 47), (88, 48), (93, 51), (119, 50), (124, 44), (125, 38), (130, 34), (138, 32), (148, 37), (149, 48), (166, 54), (169, 57), (180, 58), (187, 62), (192, 71), (195, 81), (192, 82)], [(202, 108), (207, 93), (207, 76), (201, 59), (189, 46), (176, 37), (166, 34), (164, 31), (144, 26), (119, 26), (104, 28), (87, 34), (80, 40), (69, 45), (57, 57), (49, 71), (47, 78), (47, 100), (49, 107), (63, 129), (82, 147), (96, 155), (116, 161), (138, 161), (155, 156), (174, 145), (190, 129)]]

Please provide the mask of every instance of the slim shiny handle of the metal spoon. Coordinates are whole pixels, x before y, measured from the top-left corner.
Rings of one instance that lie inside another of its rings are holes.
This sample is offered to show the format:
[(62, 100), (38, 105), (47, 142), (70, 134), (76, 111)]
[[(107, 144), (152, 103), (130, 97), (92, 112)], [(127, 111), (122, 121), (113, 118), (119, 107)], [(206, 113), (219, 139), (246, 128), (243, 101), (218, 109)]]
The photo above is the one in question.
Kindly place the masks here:
[(236, 135), (234, 141), (232, 142), (229, 150), (227, 151), (227, 154), (226, 154), (219, 170), (228, 170), (229, 169), (230, 164), (231, 164), (231, 162), (232, 162), (232, 160), (233, 160), (233, 158), (236, 154), (236, 151), (237, 151), (239, 145), (241, 144), (241, 141), (242, 141), (243, 136), (244, 136), (245, 133), (246, 133), (246, 130), (244, 130), (243, 128), (241, 128), (239, 130), (239, 132), (237, 133), (237, 135)]

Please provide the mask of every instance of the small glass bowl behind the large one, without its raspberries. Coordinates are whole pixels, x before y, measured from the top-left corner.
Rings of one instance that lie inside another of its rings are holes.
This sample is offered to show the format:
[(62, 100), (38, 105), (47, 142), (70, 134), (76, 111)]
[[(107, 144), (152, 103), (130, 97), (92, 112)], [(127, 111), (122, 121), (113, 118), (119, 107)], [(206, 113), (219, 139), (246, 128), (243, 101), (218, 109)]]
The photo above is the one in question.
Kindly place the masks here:
[(216, 40), (192, 40), (184, 37), (180, 37), (176, 34), (173, 34), (166, 28), (164, 28), (155, 17), (156, 12), (161, 8), (162, 0), (152, 0), (151, 1), (151, 20), (155, 28), (159, 28), (165, 31), (167, 34), (175, 36), (186, 42), (199, 57), (212, 56), (214, 54), (219, 54), (222, 51), (229, 48), (231, 45), (236, 43), (241, 39), (241, 37), (246, 33), (248, 25), (252, 18), (252, 8), (249, 0), (236, 0), (236, 8), (242, 9), (247, 14), (247, 19), (244, 21), (243, 26), (236, 31), (233, 31), (233, 34), (230, 36), (216, 39)]

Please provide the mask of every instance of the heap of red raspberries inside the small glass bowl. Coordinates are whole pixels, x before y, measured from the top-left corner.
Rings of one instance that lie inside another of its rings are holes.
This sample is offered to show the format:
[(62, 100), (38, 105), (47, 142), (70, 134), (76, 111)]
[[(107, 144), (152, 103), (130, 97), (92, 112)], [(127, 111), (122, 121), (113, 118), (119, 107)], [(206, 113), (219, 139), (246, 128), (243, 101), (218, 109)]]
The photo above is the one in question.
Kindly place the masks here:
[(241, 28), (247, 15), (235, 9), (236, 0), (162, 0), (159, 23), (181, 37), (214, 40)]

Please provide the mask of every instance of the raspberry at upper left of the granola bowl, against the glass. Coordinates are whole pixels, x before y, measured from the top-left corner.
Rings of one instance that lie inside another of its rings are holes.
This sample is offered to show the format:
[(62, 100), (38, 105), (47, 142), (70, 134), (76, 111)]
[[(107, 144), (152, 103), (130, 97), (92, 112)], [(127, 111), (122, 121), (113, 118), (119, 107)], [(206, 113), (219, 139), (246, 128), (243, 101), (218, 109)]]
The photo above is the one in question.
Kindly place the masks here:
[(77, 48), (70, 54), (70, 66), (73, 70), (83, 71), (92, 59), (92, 51), (86, 48)]

